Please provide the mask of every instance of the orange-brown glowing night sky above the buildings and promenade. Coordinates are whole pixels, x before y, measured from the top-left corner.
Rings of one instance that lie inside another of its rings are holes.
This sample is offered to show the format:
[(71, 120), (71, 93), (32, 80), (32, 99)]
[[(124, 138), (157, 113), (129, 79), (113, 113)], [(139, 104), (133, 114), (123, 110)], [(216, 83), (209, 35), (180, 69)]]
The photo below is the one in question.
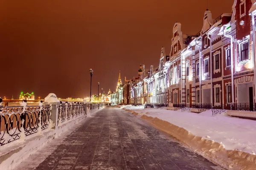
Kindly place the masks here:
[[(209, 0), (215, 19), (234, 0)], [(220, 5), (221, 4), (221, 5)], [(85, 97), (116, 89), (140, 64), (159, 65), (171, 50), (172, 28), (196, 34), (207, 0), (0, 0), (0, 96)]]

